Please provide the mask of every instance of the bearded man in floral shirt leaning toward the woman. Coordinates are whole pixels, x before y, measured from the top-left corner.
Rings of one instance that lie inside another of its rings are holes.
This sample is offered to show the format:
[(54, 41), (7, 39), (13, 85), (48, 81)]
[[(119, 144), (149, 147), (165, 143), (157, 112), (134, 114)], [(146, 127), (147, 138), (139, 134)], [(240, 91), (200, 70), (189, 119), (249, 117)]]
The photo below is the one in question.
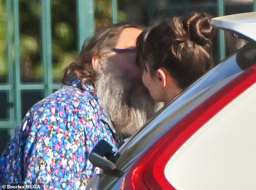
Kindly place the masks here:
[(0, 157), (0, 183), (84, 189), (95, 173), (88, 154), (101, 139), (113, 146), (155, 110), (135, 64), (141, 28), (114, 25), (86, 41), (64, 71), (65, 86), (27, 112)]

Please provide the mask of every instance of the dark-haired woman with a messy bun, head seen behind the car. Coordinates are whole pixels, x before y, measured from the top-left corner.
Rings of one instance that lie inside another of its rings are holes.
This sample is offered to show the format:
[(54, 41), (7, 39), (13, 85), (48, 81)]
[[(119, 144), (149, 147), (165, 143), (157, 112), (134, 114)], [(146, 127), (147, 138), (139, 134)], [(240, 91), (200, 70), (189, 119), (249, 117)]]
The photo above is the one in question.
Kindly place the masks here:
[(163, 21), (139, 35), (136, 61), (155, 101), (173, 100), (213, 67), (211, 37), (210, 18), (198, 13)]

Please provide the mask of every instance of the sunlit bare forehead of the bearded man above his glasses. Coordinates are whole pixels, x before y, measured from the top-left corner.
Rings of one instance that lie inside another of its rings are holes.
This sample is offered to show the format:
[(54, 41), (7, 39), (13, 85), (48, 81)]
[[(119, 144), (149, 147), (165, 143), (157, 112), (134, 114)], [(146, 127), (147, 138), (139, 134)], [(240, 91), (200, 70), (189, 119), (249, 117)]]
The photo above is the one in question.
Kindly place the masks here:
[(125, 49), (129, 47), (136, 47), (136, 39), (141, 32), (142, 30), (138, 28), (124, 29), (120, 34), (115, 48)]

